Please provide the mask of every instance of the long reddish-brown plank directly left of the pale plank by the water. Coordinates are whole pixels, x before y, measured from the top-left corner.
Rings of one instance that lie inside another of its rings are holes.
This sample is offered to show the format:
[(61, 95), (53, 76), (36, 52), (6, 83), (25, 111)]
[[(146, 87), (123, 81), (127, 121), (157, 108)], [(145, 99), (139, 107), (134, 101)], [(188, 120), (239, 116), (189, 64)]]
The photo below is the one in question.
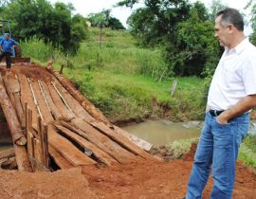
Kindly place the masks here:
[(126, 136), (121, 136), (119, 134), (116, 134), (112, 129), (107, 127), (102, 122), (91, 122), (91, 124), (101, 131), (106, 136), (109, 136), (111, 139), (115, 140), (117, 143), (119, 143), (120, 146), (122, 146), (124, 149), (127, 149), (128, 151), (140, 155), (141, 157), (145, 159), (153, 159), (153, 156), (146, 153), (144, 150), (137, 147), (136, 144), (131, 142)]

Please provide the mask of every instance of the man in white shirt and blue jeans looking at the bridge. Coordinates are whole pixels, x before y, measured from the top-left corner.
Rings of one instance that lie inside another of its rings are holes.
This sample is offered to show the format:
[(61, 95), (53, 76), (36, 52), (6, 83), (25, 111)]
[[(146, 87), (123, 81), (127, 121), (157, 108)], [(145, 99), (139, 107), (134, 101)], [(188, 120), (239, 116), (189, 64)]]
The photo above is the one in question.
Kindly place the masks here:
[(211, 199), (230, 199), (239, 146), (249, 125), (248, 111), (256, 106), (256, 47), (244, 35), (236, 9), (216, 14), (215, 37), (225, 52), (210, 83), (205, 125), (194, 156), (186, 199), (202, 198), (210, 168)]

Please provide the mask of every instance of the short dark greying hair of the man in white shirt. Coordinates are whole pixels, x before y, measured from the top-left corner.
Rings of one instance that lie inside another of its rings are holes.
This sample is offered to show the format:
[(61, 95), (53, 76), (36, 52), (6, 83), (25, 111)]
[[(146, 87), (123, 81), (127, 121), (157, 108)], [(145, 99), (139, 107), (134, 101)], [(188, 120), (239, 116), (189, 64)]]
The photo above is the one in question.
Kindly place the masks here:
[(237, 9), (223, 9), (217, 12), (216, 16), (221, 16), (221, 25), (228, 27), (232, 24), (240, 31), (244, 31), (244, 20), (242, 14)]

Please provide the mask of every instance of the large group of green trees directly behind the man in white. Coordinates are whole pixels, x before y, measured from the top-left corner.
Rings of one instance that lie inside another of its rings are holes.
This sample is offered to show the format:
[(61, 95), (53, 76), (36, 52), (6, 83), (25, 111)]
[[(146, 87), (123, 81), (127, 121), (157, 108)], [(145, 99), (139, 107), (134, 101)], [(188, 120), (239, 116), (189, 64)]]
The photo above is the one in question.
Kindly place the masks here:
[[(119, 6), (132, 8), (137, 0), (124, 0)], [(145, 7), (137, 9), (128, 23), (137, 44), (161, 47), (166, 60), (164, 76), (199, 76), (212, 74), (222, 48), (214, 38), (215, 13), (226, 8), (220, 0), (213, 0), (210, 9), (201, 2), (189, 0), (144, 0)], [(251, 1), (256, 43), (256, 4)]]

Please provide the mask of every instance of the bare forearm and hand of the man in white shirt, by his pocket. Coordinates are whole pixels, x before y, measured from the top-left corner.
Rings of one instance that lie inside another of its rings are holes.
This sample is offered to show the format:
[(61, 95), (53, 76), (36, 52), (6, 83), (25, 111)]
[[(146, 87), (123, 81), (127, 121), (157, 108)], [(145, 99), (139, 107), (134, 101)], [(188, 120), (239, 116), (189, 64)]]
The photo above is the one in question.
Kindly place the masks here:
[(238, 101), (234, 106), (232, 106), (228, 110), (224, 111), (216, 119), (221, 124), (227, 124), (230, 118), (235, 118), (241, 114), (244, 114), (255, 106), (256, 95), (249, 95)]

